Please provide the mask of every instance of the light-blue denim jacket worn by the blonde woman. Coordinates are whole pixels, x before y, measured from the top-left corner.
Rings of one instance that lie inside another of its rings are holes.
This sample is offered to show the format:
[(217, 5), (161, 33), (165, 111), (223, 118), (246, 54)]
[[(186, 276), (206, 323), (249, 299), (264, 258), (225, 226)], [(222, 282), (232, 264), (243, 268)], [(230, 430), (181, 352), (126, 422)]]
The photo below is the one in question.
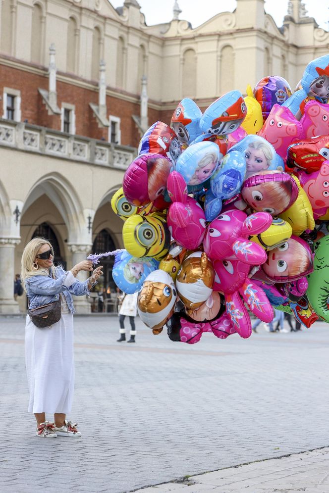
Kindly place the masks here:
[(72, 272), (66, 272), (61, 266), (55, 268), (55, 279), (51, 275), (28, 277), (25, 279), (25, 288), (30, 309), (52, 303), (62, 293), (72, 314), (75, 313), (72, 295), (89, 296), (90, 293), (88, 280), (81, 283)]

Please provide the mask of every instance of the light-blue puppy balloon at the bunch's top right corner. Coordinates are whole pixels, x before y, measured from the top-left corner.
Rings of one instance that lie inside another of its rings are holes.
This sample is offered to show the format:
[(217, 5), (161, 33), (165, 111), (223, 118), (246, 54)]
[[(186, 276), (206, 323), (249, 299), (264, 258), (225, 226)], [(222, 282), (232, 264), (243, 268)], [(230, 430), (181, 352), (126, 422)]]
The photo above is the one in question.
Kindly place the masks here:
[(283, 106), (289, 108), (298, 119), (303, 114), (308, 101), (317, 99), (321, 103), (326, 103), (329, 98), (329, 55), (320, 56), (307, 65), (301, 86), (302, 89), (296, 91), (283, 103)]

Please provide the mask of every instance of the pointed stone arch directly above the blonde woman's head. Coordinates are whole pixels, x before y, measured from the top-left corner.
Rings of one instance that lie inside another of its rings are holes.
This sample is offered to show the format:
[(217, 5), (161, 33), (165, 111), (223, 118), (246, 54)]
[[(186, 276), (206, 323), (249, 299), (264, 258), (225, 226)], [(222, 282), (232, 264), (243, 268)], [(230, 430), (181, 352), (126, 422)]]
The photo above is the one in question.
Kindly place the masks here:
[(46, 195), (62, 216), (68, 233), (68, 243), (80, 243), (86, 227), (81, 200), (66, 178), (60, 173), (41, 177), (30, 189), (24, 201), (22, 215), (39, 197)]

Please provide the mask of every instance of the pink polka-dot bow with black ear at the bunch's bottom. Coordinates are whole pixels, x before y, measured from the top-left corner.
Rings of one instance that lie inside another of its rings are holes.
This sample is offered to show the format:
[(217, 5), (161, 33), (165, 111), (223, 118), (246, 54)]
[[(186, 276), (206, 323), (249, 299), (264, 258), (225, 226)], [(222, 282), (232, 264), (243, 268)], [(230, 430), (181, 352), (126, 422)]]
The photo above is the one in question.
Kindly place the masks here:
[(226, 312), (218, 315), (215, 320), (197, 323), (188, 315), (176, 312), (167, 322), (168, 337), (171, 341), (196, 344), (205, 332), (212, 333), (219, 339), (226, 339), (235, 334), (231, 319)]

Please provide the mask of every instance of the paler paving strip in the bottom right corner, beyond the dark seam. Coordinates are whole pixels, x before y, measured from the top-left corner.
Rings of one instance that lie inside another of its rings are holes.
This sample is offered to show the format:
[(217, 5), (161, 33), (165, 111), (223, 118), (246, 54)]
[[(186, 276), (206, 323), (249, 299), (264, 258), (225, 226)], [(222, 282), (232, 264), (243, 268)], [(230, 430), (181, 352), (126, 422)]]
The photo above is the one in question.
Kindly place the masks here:
[(327, 493), (329, 448), (252, 462), (167, 483), (136, 493)]

